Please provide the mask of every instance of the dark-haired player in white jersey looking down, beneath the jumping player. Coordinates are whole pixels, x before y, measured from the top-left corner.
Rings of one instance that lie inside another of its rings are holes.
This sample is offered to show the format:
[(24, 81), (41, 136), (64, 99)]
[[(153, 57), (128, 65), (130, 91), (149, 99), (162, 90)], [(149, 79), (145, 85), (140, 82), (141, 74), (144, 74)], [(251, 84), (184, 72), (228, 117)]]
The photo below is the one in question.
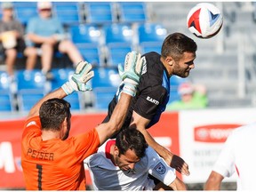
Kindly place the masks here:
[[(116, 140), (108, 140), (96, 154), (84, 160), (94, 190), (153, 190), (156, 184), (148, 173), (162, 181), (169, 189), (186, 190), (168, 166), (136, 129), (124, 129)], [(162, 187), (159, 182), (157, 187)]]

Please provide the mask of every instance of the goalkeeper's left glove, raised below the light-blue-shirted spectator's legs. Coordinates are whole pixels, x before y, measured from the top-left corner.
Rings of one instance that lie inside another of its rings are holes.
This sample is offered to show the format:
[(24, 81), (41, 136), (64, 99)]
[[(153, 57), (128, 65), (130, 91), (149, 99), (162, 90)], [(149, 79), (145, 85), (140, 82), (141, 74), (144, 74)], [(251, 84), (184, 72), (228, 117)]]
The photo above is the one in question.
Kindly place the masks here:
[(92, 88), (86, 83), (94, 76), (91, 71), (92, 65), (87, 61), (80, 61), (76, 66), (75, 73), (71, 76), (67, 83), (63, 84), (61, 88), (67, 95), (72, 92), (86, 92), (92, 91)]

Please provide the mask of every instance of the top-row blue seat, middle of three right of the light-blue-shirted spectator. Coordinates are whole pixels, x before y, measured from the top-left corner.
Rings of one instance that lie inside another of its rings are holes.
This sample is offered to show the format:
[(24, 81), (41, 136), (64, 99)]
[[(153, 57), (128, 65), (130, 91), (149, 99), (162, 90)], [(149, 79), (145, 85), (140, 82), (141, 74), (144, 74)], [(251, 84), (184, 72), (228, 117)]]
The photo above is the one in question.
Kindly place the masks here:
[(116, 21), (113, 3), (111, 2), (86, 2), (86, 22), (100, 25)]

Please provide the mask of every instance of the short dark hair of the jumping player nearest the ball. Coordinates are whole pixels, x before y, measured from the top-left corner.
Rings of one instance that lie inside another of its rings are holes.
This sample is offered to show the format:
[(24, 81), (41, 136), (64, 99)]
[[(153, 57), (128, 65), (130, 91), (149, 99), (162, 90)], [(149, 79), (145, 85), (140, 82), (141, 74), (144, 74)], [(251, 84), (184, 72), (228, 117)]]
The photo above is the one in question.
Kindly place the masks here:
[(173, 33), (164, 39), (161, 55), (166, 58), (171, 56), (173, 60), (180, 60), (184, 52), (196, 52), (196, 42), (181, 33)]

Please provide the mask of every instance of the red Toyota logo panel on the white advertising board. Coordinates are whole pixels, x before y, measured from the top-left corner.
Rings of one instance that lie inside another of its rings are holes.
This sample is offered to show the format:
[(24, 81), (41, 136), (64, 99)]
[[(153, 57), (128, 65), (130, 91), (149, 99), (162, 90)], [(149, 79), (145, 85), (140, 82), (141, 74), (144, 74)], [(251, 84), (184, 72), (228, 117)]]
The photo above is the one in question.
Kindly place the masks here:
[(198, 142), (223, 143), (228, 135), (241, 124), (207, 124), (194, 128), (194, 140)]

